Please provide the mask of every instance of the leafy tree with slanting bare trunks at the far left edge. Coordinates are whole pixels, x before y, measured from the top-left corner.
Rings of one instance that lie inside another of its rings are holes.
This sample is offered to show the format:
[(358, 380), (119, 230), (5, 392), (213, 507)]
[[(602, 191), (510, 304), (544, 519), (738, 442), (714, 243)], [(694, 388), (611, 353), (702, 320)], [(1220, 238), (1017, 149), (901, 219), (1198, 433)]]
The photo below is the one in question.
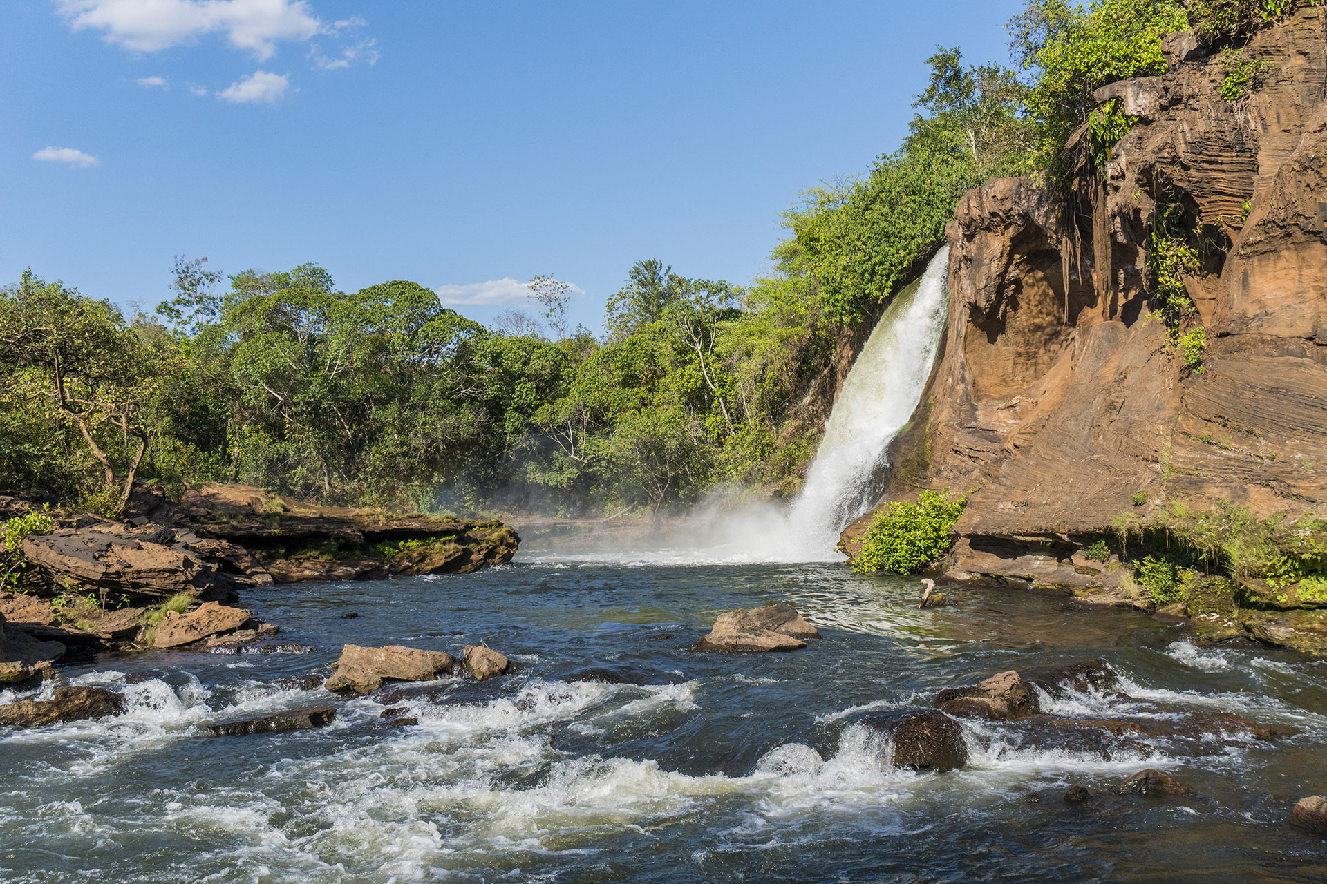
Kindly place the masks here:
[(157, 354), (109, 304), (32, 270), (0, 298), (0, 345), (15, 386), (78, 429), (101, 467), (106, 512), (123, 510), (147, 451), (141, 416)]

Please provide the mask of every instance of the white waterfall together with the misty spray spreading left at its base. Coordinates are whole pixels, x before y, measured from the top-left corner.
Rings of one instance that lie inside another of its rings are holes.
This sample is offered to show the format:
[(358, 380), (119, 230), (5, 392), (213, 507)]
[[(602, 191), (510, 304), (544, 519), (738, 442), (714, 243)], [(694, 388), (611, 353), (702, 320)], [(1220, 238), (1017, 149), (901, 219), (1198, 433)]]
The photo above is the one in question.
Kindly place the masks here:
[[(679, 525), (622, 545), (591, 541), (593, 561), (650, 565), (833, 562), (839, 533), (884, 490), (886, 449), (930, 376), (949, 313), (949, 247), (890, 302), (857, 355), (825, 425), (802, 494), (791, 505), (698, 506)], [(559, 557), (575, 555), (559, 545)], [(537, 555), (536, 555), (537, 558)]]

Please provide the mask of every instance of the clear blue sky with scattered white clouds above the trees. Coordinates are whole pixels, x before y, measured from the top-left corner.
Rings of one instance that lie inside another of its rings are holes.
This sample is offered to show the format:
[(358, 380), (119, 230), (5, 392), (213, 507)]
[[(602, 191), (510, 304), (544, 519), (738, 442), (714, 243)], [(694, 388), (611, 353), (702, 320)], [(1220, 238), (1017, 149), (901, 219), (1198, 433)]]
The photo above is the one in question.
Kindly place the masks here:
[(1019, 7), (5, 0), (0, 282), (150, 310), (175, 254), (314, 261), (488, 321), (552, 273), (597, 330), (637, 260), (760, 276), (798, 192), (898, 146), (934, 46), (1007, 62)]

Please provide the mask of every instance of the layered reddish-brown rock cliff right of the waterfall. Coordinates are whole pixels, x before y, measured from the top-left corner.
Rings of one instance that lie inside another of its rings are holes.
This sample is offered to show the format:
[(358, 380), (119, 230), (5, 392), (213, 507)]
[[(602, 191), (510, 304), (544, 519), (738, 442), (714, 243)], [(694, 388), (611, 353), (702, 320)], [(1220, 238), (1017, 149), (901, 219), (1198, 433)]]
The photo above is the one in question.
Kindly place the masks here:
[[(1221, 98), (1218, 58), (1180, 61), (1192, 48), (1161, 77), (1099, 90), (1139, 122), (1074, 227), (1028, 179), (959, 203), (942, 355), (885, 493), (970, 492), (950, 577), (1109, 584), (1082, 546), (1168, 501), (1327, 514), (1322, 11), (1245, 50), (1266, 68), (1241, 101)], [(1208, 334), (1201, 372), (1154, 313), (1158, 200), (1209, 240), (1184, 280)], [(844, 533), (849, 551), (867, 521)]]

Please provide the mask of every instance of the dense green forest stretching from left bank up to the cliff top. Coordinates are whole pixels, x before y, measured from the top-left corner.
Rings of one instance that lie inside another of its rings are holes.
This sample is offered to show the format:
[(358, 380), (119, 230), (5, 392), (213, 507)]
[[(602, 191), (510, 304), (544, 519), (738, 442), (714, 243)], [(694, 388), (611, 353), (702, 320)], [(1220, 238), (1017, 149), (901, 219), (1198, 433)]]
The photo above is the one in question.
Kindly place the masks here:
[(817, 441), (799, 406), (836, 331), (918, 273), (965, 191), (1067, 180), (1075, 133), (1100, 158), (1131, 125), (1097, 107), (1097, 86), (1164, 70), (1169, 32), (1238, 46), (1292, 7), (1034, 0), (1010, 23), (1013, 68), (957, 48), (928, 60), (900, 148), (804, 193), (772, 276), (733, 285), (640, 261), (601, 338), (567, 327), (551, 277), (529, 282), (541, 315), (484, 327), (417, 282), (345, 293), (317, 264), (224, 276), (178, 258), (170, 300), (135, 315), (25, 272), (0, 296), (0, 486), (105, 513), (134, 481), (563, 516), (787, 492)]

